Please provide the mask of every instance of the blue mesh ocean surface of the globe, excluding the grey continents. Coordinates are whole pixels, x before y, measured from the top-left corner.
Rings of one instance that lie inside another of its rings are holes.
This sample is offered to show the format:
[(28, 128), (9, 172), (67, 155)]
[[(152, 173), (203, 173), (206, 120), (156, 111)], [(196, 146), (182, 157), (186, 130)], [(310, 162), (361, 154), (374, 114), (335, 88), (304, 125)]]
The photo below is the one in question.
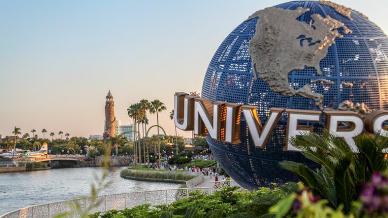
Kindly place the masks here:
[[(353, 32), (336, 38), (327, 55), (319, 62), (322, 74), (313, 67), (294, 70), (288, 74), (289, 85), (295, 90), (310, 84), (312, 91), (324, 96), (323, 107), (336, 109), (346, 100), (365, 103), (370, 109), (388, 109), (388, 40), (383, 31), (362, 14), (351, 11), (349, 19), (335, 8), (321, 2), (289, 2), (275, 6), (287, 10), (298, 7), (310, 9), (297, 20), (309, 23), (312, 14), (344, 23)], [(256, 17), (241, 23), (221, 43), (207, 69), (202, 97), (211, 101), (226, 101), (258, 106), (258, 114), (265, 123), (269, 108), (319, 110), (315, 101), (301, 96), (282, 96), (272, 92), (267, 82), (253, 79), (249, 42), (255, 34)], [(289, 27), (292, 28), (292, 27)], [(314, 82), (330, 79), (334, 84)], [(352, 85), (346, 85), (352, 84)], [(244, 116), (241, 116), (241, 143), (237, 145), (207, 141), (223, 169), (238, 184), (247, 189), (282, 184), (298, 178), (278, 166), (282, 160), (313, 164), (299, 152), (283, 151), (287, 116), (283, 113), (264, 149), (255, 148)], [(319, 131), (319, 127), (316, 127)]]

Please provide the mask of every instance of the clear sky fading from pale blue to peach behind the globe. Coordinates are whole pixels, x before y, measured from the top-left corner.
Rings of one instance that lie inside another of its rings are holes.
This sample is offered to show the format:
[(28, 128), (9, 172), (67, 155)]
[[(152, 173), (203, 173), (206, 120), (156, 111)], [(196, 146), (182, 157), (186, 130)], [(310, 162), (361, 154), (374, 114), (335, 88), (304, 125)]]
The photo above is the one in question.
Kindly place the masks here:
[[(175, 92), (201, 92), (222, 40), (255, 11), (282, 1), (0, 1), (0, 134), (36, 129), (102, 134), (110, 89), (116, 118), (159, 99), (169, 119)], [(386, 0), (334, 1), (388, 31)], [(156, 124), (156, 116), (149, 116)], [(46, 134), (46, 137), (49, 134)], [(190, 136), (178, 130), (178, 135)]]

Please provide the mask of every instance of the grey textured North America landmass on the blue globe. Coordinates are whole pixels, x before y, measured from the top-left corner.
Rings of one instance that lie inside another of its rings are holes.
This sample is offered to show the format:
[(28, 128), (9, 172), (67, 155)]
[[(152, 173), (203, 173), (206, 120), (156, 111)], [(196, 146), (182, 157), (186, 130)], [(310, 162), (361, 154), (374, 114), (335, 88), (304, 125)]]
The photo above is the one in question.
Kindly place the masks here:
[(266, 8), (251, 15), (248, 20), (259, 17), (255, 35), (249, 42), (254, 79), (257, 74), (269, 84), (271, 91), (283, 96), (300, 95), (313, 99), (323, 110), (323, 95), (314, 93), (310, 84), (299, 90), (288, 83), (288, 74), (293, 70), (314, 67), (321, 74), (319, 62), (326, 57), (328, 48), (336, 37), (342, 38), (337, 29), (351, 33), (344, 23), (319, 14), (311, 15), (310, 24), (296, 20), (310, 9), (296, 10)]

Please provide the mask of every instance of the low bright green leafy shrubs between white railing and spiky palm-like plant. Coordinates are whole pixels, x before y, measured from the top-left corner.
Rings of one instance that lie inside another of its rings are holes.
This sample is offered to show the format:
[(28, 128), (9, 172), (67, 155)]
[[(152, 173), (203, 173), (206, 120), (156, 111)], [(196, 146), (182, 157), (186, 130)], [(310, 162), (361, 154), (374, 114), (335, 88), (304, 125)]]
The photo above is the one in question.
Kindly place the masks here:
[(124, 210), (110, 210), (105, 213), (94, 213), (89, 218), (253, 218), (274, 217), (268, 213), (268, 208), (278, 200), (289, 195), (282, 187), (269, 189), (260, 188), (257, 191), (239, 191), (235, 187), (222, 187), (212, 195), (201, 191), (189, 193), (188, 198), (182, 198), (169, 205), (151, 207), (150, 204)]

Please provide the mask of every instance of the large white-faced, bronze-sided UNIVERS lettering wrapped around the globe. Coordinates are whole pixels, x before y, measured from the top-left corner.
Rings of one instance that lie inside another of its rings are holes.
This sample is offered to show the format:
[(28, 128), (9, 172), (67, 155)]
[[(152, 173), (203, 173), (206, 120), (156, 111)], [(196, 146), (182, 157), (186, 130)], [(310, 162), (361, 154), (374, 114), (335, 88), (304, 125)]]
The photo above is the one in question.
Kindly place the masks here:
[[(240, 116), (244, 115), (249, 132), (256, 148), (264, 148), (281, 114), (287, 113), (287, 133), (284, 151), (299, 151), (290, 144), (290, 139), (312, 132), (312, 125), (301, 125), (300, 122), (320, 122), (322, 111), (270, 108), (270, 114), (263, 126), (257, 114), (257, 106), (241, 105), (227, 102), (213, 102), (187, 93), (175, 93), (174, 123), (182, 130), (194, 130), (198, 136), (210, 136), (217, 141), (239, 144)], [(379, 132), (388, 135), (383, 122), (388, 120), (388, 111), (379, 110), (369, 113), (363, 120), (352, 111), (324, 111), (325, 126), (338, 137), (343, 137), (357, 152), (354, 137), (365, 128), (369, 133)], [(342, 126), (340, 123), (348, 123)]]

